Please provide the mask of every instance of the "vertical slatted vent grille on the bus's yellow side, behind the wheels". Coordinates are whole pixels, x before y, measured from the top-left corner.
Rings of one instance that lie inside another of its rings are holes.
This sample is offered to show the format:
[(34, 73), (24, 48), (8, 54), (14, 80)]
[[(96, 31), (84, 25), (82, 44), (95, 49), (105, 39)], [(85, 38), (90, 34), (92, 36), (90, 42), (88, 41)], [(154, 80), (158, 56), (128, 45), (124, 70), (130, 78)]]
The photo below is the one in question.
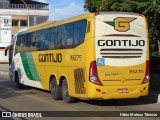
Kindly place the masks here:
[(85, 82), (85, 69), (78, 68), (74, 70), (75, 78), (75, 93), (76, 94), (85, 94), (86, 88), (84, 85)]

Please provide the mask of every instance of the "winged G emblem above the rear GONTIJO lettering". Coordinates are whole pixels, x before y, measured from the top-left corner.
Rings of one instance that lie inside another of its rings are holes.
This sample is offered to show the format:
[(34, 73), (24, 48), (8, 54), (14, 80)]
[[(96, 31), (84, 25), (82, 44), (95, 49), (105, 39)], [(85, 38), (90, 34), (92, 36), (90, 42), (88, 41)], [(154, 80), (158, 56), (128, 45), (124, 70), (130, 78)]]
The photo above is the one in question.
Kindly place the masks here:
[(117, 17), (114, 21), (105, 22), (114, 27), (115, 30), (119, 32), (126, 32), (130, 29), (130, 22), (136, 18), (126, 18), (126, 17)]

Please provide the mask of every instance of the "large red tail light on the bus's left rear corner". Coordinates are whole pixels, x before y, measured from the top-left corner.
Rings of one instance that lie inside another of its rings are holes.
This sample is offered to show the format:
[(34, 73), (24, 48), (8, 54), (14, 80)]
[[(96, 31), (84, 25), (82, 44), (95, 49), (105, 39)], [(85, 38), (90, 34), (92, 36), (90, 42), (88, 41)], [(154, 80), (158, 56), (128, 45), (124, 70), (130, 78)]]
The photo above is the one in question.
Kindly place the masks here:
[(102, 83), (98, 77), (96, 61), (92, 61), (90, 64), (90, 78), (89, 78), (89, 80), (90, 80), (90, 82), (92, 82), (94, 84), (102, 85)]

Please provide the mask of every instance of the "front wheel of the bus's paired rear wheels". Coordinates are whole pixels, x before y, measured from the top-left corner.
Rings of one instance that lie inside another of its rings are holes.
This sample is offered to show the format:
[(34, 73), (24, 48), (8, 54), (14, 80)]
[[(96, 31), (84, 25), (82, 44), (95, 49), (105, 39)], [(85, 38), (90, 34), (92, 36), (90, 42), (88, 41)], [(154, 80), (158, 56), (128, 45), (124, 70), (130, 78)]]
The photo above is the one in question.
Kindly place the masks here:
[(59, 85), (57, 85), (55, 78), (52, 78), (52, 80), (51, 80), (50, 90), (51, 90), (52, 98), (54, 100), (61, 100), (62, 99), (61, 87)]

